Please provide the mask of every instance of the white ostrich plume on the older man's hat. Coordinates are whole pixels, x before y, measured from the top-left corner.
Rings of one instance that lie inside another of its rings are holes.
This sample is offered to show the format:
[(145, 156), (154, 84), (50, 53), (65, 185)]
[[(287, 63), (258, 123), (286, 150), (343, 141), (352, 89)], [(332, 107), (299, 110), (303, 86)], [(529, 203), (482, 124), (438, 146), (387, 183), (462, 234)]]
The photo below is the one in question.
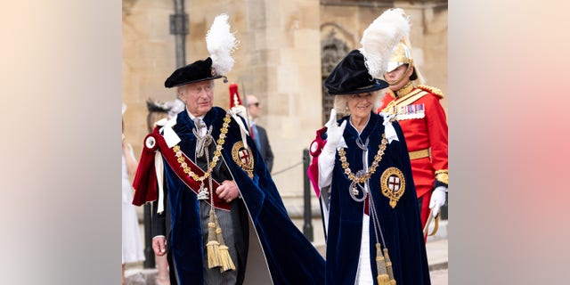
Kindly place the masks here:
[(217, 75), (224, 75), (233, 68), (232, 53), (236, 50), (239, 41), (234, 33), (230, 32), (227, 14), (219, 14), (206, 34), (208, 53), (212, 58), (212, 68)]

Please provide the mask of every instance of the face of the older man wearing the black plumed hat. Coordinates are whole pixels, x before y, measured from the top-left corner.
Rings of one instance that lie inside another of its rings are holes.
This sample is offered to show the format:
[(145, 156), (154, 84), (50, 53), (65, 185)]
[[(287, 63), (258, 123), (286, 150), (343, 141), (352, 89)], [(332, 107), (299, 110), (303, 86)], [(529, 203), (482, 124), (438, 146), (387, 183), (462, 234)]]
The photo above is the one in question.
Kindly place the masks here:
[(194, 116), (208, 113), (214, 104), (214, 81), (200, 81), (183, 85), (178, 90), (180, 99), (186, 103), (186, 109)]

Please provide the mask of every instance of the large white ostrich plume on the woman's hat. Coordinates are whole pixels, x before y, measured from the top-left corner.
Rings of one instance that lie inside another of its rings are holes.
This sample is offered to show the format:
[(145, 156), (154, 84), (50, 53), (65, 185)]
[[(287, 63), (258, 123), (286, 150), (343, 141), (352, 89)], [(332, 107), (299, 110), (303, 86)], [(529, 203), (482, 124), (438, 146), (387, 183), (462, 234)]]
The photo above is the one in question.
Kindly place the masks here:
[(400, 8), (387, 10), (374, 20), (360, 41), (368, 73), (374, 78), (382, 77), (395, 45), (409, 36), (410, 20)]

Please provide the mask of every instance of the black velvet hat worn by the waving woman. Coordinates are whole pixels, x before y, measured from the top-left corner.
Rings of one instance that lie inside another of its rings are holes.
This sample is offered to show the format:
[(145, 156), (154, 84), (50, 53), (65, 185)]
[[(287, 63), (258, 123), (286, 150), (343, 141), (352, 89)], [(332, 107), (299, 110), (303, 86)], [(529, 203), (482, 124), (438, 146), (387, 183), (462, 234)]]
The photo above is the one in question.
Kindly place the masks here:
[(388, 86), (386, 81), (371, 77), (364, 65), (364, 56), (358, 50), (346, 54), (324, 85), (331, 95), (368, 93)]

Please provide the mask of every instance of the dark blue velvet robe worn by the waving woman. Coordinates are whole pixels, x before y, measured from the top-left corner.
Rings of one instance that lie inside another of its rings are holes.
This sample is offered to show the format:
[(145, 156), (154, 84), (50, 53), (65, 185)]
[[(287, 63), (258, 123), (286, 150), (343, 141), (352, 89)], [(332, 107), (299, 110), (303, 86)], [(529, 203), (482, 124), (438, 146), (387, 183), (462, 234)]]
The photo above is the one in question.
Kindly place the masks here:
[[(338, 125), (343, 120), (338, 120)], [(384, 118), (371, 113), (368, 125), (362, 130), (362, 142), (370, 138), (368, 145), (369, 167), (374, 156), (379, 150), (379, 145), (384, 134), (382, 125)], [(402, 129), (393, 123), (398, 141), (392, 141), (387, 145), (384, 156), (379, 162), (379, 167), (371, 176), (371, 195), (379, 216), (380, 225), (387, 243), (388, 253), (392, 260), (395, 281), (398, 285), (424, 285), (430, 284), (428, 258), (426, 247), (422, 238), (421, 224), (419, 222), (418, 200), (411, 176), (410, 159), (406, 147)], [(326, 134), (325, 134), (326, 135)], [(356, 145), (357, 131), (346, 123), (343, 134), (347, 148), (346, 159), (353, 173), (362, 169), (362, 150)], [(403, 172), (406, 186), (403, 196), (399, 199), (395, 208), (388, 204), (389, 199), (382, 194), (380, 188), (380, 176), (388, 167), (397, 167)], [(330, 216), (329, 232), (327, 235), (327, 264), (326, 284), (354, 284), (360, 256), (362, 235), (362, 215), (364, 202), (354, 201), (348, 192), (350, 181), (346, 177), (338, 153), (335, 158), (335, 166), (330, 185)], [(362, 194), (361, 194), (362, 195)], [(371, 269), (374, 284), (377, 284), (376, 276), (376, 239), (370, 223), (370, 248)], [(381, 243), (381, 241), (380, 241)]]

